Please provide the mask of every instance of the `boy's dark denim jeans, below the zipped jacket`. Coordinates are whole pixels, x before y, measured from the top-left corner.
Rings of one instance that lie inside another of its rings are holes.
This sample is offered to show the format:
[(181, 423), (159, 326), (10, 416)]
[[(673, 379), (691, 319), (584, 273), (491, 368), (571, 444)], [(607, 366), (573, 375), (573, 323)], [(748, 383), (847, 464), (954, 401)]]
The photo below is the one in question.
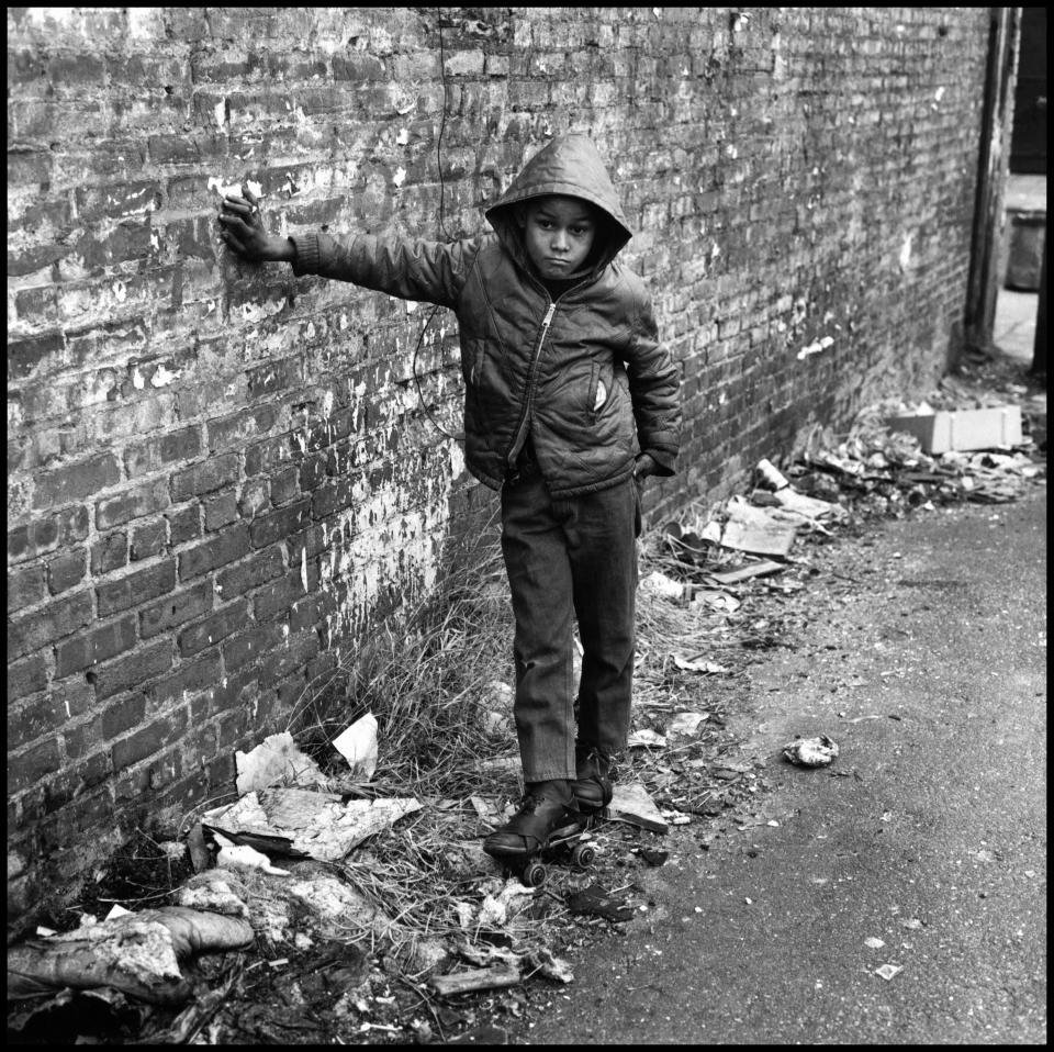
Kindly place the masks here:
[[(513, 713), (525, 782), (574, 779), (576, 739), (606, 756), (626, 745), (639, 534), (633, 479), (564, 500), (553, 500), (537, 473), (502, 488), (502, 553), (516, 622)], [(576, 698), (575, 617), (583, 649)]]

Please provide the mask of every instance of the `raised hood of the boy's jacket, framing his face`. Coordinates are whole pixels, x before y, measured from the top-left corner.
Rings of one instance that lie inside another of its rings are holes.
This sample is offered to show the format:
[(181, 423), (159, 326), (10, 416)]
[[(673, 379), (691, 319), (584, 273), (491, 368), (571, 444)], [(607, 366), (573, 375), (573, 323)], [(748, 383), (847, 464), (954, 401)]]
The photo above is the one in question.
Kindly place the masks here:
[(515, 206), (551, 193), (581, 198), (604, 213), (599, 234), (603, 240), (599, 254), (592, 257), (592, 271), (606, 267), (633, 236), (593, 141), (582, 134), (561, 135), (535, 154), (505, 193), (483, 213), (502, 244), (522, 266), (527, 266), (527, 257)]

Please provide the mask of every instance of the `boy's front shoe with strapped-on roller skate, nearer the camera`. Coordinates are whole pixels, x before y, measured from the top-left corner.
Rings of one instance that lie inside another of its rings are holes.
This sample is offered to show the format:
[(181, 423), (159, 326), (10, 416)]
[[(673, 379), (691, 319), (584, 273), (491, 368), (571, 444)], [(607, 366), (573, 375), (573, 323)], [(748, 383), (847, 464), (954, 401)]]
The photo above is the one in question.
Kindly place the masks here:
[(545, 860), (587, 866), (596, 848), (584, 838), (592, 819), (579, 810), (567, 782), (528, 785), (519, 810), (483, 841), (483, 850), (525, 887), (546, 882)]

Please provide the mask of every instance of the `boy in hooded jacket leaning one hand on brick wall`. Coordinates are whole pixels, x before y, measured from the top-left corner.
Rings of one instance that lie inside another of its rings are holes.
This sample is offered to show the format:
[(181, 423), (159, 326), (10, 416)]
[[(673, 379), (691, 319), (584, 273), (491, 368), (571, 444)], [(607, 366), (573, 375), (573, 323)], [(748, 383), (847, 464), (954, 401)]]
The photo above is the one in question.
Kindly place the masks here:
[(457, 314), (466, 463), (501, 492), (526, 784), (484, 848), (525, 859), (612, 798), (612, 758), (629, 730), (640, 485), (673, 474), (680, 381), (642, 282), (615, 261), (631, 232), (590, 138), (551, 141), (485, 215), (494, 233), (449, 244), (282, 238), (247, 194), (224, 200), (220, 224), (250, 261)]

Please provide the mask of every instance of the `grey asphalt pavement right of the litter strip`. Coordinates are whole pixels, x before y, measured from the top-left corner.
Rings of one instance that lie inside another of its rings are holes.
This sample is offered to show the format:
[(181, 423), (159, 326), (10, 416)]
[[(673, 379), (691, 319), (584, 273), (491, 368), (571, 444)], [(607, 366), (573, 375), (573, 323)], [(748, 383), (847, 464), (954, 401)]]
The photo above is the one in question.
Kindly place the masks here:
[(736, 717), (756, 812), (672, 827), (512, 1043), (1045, 1043), (1045, 484), (876, 523), (810, 591)]

